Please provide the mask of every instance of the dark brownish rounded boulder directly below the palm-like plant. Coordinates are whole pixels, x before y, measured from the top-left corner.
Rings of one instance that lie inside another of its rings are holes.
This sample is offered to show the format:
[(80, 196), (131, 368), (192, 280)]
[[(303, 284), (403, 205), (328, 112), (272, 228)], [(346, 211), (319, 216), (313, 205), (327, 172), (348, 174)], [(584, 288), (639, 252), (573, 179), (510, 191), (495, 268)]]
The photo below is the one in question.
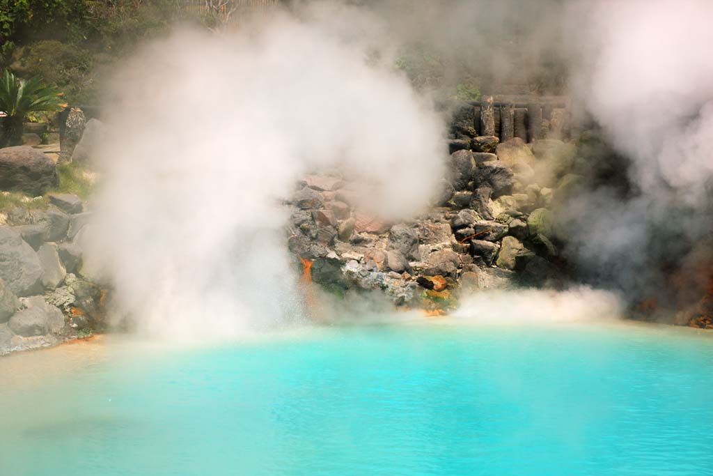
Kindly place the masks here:
[(28, 146), (0, 148), (0, 190), (40, 196), (59, 185), (55, 163)]

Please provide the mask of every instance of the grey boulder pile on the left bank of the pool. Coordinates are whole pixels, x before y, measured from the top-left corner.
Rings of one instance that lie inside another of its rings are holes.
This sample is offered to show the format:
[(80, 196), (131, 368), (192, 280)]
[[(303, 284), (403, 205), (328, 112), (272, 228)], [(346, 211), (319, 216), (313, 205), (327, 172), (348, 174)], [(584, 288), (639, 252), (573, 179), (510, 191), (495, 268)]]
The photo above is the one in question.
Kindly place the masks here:
[(48, 194), (46, 211), (14, 208), (0, 226), (0, 355), (101, 328), (103, 290), (83, 273), (80, 198)]

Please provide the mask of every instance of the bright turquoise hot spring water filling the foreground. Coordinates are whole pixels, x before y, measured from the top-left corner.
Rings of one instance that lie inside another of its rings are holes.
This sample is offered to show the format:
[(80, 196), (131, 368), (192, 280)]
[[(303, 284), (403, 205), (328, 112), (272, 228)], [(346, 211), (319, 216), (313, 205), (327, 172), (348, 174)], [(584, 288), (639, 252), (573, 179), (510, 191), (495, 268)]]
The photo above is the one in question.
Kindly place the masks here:
[(106, 348), (0, 390), (0, 475), (713, 475), (709, 333), (401, 325)]

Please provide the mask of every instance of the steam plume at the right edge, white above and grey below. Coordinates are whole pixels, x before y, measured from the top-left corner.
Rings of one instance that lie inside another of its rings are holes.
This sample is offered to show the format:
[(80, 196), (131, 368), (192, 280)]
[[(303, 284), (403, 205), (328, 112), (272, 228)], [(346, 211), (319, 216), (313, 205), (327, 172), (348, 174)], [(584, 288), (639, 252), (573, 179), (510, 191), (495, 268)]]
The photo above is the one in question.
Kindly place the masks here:
[(600, 283), (657, 295), (672, 273), (697, 272), (697, 248), (708, 262), (712, 252), (713, 4), (580, 2), (573, 13), (589, 19), (573, 38), (584, 58), (575, 91), (630, 166), (628, 188), (570, 203), (564, 234)]

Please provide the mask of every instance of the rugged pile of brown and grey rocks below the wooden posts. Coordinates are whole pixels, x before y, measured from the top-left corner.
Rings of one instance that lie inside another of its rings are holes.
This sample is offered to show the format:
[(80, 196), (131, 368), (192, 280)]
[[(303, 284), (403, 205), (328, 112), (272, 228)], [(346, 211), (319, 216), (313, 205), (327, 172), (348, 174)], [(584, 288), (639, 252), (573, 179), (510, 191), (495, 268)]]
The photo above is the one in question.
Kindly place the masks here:
[(556, 285), (560, 243), (549, 207), (573, 146), (494, 136), (468, 148), (460, 142), (448, 143), (437, 203), (414, 221), (389, 223), (360, 210), (342, 177), (304, 178), (287, 203), (288, 243), (312, 262), (314, 282), (339, 294), (381, 290), (396, 305), (434, 311), (478, 289)]

